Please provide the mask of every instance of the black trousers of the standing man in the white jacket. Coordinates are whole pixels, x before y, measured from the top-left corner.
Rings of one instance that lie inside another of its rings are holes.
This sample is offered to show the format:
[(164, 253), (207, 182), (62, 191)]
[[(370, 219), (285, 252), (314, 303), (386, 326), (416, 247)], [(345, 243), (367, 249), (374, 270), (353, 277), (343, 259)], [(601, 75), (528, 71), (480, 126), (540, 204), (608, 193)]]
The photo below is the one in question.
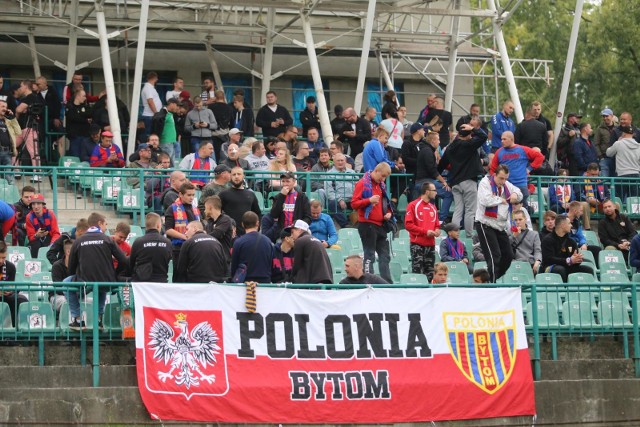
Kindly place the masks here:
[(509, 235), (504, 230), (498, 231), (481, 222), (476, 222), (475, 228), (484, 260), (487, 262), (490, 281), (495, 283), (507, 272), (513, 260)]

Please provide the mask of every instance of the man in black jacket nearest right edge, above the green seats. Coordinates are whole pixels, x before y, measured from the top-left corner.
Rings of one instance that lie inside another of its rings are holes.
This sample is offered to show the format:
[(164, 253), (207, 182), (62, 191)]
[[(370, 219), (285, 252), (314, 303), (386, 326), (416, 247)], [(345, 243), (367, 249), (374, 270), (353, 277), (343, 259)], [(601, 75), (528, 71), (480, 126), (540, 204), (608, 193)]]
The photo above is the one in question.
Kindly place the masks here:
[(605, 249), (622, 251), (625, 261), (629, 260), (631, 241), (636, 236), (633, 221), (621, 214), (611, 200), (604, 202), (604, 218), (598, 222), (598, 237)]

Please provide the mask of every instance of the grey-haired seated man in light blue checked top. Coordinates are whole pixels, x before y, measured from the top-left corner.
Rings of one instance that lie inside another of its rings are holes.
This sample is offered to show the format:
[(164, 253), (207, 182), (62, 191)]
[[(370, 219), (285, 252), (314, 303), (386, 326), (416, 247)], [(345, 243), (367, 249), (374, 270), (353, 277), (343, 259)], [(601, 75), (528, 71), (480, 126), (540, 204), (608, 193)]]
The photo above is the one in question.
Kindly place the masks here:
[[(340, 227), (346, 227), (349, 225), (346, 211), (351, 205), (357, 178), (353, 169), (347, 168), (347, 158), (342, 153), (333, 157), (333, 168), (329, 174), (329, 179), (324, 182), (329, 212)], [(345, 176), (340, 177), (338, 174)]]

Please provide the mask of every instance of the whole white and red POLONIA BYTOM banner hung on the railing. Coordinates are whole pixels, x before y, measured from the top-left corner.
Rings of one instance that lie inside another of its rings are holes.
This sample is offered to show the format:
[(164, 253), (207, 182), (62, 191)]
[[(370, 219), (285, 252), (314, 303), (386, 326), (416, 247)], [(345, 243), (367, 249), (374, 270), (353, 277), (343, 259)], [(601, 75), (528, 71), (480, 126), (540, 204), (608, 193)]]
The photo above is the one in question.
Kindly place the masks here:
[(401, 423), (535, 414), (520, 290), (135, 283), (151, 417)]

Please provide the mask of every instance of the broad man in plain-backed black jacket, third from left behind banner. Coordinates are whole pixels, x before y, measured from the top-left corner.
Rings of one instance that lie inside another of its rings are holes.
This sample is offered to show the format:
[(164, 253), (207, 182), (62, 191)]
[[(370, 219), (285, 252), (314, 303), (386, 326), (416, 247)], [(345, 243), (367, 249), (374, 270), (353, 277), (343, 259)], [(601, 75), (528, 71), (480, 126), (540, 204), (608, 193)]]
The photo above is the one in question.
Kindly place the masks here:
[(204, 232), (200, 221), (187, 225), (188, 239), (182, 244), (175, 282), (221, 283), (227, 279), (227, 259), (222, 244)]

